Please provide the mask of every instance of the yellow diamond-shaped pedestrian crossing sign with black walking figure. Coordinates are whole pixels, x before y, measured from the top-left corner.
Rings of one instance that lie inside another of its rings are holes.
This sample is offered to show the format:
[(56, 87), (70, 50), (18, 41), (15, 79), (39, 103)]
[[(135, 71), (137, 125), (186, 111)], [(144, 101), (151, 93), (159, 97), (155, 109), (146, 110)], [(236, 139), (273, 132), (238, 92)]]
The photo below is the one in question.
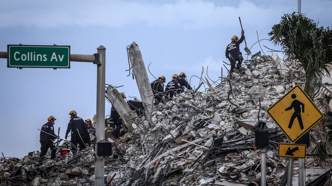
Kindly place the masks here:
[(323, 118), (323, 114), (305, 92), (296, 85), (268, 109), (291, 142), (298, 140)]

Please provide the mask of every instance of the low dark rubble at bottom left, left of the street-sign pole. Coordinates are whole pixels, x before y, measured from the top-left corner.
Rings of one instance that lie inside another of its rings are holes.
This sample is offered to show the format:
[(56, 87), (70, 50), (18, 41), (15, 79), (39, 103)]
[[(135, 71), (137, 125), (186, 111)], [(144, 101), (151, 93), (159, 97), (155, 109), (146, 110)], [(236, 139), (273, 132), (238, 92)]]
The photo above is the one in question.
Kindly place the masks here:
[[(68, 149), (64, 143), (59, 149)], [(2, 185), (91, 185), (94, 183), (94, 152), (89, 147), (78, 154), (58, 156), (38, 163), (40, 152), (30, 152), (23, 159), (6, 158), (0, 164)], [(50, 151), (48, 153), (50, 155)], [(46, 158), (49, 158), (46, 155)]]

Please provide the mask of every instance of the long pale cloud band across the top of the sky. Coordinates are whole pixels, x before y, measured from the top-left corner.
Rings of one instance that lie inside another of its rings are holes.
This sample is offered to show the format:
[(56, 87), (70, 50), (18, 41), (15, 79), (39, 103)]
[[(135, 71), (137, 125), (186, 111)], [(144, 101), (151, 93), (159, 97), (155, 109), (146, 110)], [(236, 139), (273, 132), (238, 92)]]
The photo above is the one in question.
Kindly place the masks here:
[[(244, 22), (262, 26), (262, 22), (280, 19), (288, 6), (259, 7), (243, 0), (238, 6), (217, 6), (201, 0), (179, 0), (175, 3), (152, 4), (114, 1), (7, 1), (1, 8), (1, 27), (12, 25), (57, 26), (108, 26), (123, 27), (145, 23), (158, 27), (206, 28), (227, 26), (242, 16)], [(97, 3), (98, 2), (98, 3)], [(278, 15), (275, 17), (274, 14)]]

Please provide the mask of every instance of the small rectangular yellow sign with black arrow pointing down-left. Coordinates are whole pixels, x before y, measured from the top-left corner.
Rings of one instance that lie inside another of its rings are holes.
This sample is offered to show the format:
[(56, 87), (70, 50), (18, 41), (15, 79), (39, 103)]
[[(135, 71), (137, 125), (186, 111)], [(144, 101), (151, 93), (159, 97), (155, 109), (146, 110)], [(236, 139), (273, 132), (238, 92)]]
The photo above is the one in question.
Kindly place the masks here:
[(279, 143), (278, 156), (280, 158), (305, 158), (306, 145)]

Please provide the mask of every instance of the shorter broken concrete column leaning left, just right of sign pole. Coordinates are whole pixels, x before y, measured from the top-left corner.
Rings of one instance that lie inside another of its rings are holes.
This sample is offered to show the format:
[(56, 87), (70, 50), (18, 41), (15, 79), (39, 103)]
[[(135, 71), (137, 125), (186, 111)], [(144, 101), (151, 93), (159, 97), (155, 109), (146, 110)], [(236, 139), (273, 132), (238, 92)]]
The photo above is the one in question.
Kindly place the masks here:
[(130, 110), (119, 91), (116, 88), (110, 87), (107, 91), (107, 97), (121, 116), (124, 125), (128, 128), (129, 132), (132, 133), (134, 129), (131, 123), (135, 121), (136, 116)]

